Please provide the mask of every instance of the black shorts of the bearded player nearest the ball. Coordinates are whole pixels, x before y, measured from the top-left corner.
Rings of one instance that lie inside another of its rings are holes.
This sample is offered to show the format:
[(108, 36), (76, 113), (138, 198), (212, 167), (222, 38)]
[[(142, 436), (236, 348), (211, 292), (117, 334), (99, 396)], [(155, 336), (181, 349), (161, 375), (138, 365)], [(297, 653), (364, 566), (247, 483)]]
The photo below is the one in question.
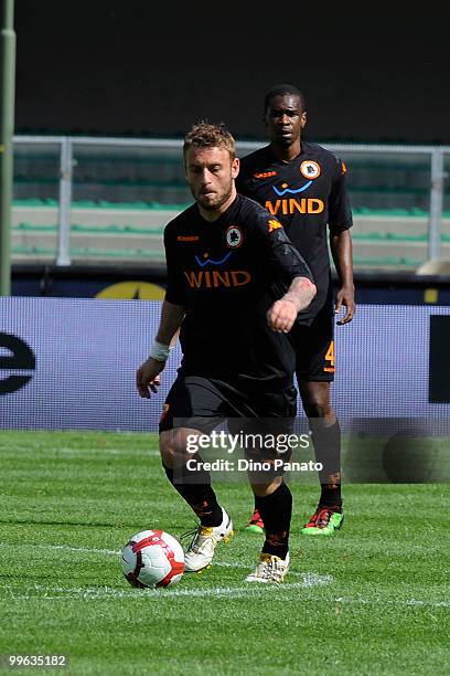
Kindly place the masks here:
[(249, 392), (215, 378), (180, 374), (165, 399), (159, 431), (189, 427), (208, 434), (227, 422), (233, 430), (247, 424), (287, 433), (296, 413), (293, 384), (278, 392), (266, 392), (264, 385)]

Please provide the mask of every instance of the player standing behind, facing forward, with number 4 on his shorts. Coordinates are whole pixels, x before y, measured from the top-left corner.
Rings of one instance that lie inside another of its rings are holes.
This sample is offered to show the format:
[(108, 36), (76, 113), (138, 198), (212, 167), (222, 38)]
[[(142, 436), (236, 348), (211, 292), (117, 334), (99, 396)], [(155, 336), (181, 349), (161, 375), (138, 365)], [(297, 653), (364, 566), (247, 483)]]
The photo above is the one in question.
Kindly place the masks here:
[[(297, 87), (272, 87), (265, 97), (264, 120), (270, 142), (242, 158), (236, 188), (279, 219), (317, 285), (314, 300), (292, 329), (300, 398), (309, 419), (315, 460), (324, 467), (318, 508), (301, 532), (330, 536), (343, 522), (341, 432), (330, 399), (335, 368), (334, 314), (345, 306), (345, 315), (338, 321), (344, 325), (355, 313), (346, 167), (329, 150), (301, 139), (307, 112), (303, 94)], [(335, 306), (328, 240), (340, 283)], [(247, 528), (262, 532), (264, 527), (264, 517), (255, 505)]]

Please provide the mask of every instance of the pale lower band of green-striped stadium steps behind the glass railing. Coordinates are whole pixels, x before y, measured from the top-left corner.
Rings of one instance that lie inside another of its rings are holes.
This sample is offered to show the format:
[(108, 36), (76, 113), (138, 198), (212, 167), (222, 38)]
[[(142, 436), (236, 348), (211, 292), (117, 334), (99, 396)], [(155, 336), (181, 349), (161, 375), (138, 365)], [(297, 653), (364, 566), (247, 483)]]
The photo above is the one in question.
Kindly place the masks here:
[[(71, 257), (77, 262), (164, 262), (163, 229), (185, 205), (170, 209), (98, 208), (71, 210)], [(57, 205), (13, 208), (12, 260), (54, 261), (57, 247)], [(352, 230), (355, 268), (417, 268), (428, 258), (428, 218), (356, 213)], [(450, 257), (450, 219), (442, 222), (442, 256)]]

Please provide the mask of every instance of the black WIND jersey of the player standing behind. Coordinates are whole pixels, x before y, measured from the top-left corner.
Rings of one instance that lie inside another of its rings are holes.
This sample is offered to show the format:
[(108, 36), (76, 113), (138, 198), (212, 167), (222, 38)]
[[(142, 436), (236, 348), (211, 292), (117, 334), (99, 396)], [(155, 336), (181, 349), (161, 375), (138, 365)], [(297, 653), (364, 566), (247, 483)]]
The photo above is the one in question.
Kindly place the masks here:
[(352, 226), (345, 183), (346, 167), (317, 144), (301, 142), (301, 152), (290, 162), (279, 160), (270, 146), (240, 160), (236, 188), (278, 219), (308, 263), (318, 295), (303, 316), (312, 319), (331, 297), (329, 232)]

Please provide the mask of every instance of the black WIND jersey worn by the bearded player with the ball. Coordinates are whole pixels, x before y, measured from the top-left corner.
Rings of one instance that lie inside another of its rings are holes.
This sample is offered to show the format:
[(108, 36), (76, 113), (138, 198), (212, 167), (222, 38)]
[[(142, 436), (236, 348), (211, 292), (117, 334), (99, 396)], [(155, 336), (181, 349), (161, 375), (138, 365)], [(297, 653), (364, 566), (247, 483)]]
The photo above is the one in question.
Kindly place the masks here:
[(312, 275), (278, 219), (243, 196), (213, 223), (193, 204), (167, 225), (164, 246), (165, 299), (186, 308), (181, 372), (267, 391), (290, 383), (291, 339), (266, 313), (294, 277)]

